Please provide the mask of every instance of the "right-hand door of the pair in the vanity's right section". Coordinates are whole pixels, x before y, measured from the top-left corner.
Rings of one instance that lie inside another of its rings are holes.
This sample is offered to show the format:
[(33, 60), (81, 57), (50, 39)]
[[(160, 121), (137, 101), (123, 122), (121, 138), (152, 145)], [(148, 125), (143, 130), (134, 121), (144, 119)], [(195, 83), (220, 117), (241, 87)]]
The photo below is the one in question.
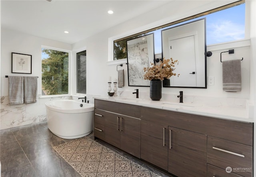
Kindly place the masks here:
[(206, 177), (207, 136), (169, 127), (168, 171), (178, 177)]

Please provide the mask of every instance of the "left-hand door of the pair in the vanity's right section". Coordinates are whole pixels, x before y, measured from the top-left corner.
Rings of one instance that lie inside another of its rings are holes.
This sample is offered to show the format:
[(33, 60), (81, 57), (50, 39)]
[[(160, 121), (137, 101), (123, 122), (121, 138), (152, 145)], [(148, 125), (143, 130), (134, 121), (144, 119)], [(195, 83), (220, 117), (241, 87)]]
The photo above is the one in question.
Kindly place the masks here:
[(141, 159), (168, 170), (168, 126), (141, 120)]

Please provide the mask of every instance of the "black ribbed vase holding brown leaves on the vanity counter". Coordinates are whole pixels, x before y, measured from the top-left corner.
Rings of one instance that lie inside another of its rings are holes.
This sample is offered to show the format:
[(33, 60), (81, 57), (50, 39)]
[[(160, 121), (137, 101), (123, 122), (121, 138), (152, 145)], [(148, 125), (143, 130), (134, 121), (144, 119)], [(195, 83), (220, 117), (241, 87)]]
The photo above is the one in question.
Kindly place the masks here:
[(159, 101), (162, 98), (162, 81), (152, 80), (150, 81), (150, 98), (154, 101)]

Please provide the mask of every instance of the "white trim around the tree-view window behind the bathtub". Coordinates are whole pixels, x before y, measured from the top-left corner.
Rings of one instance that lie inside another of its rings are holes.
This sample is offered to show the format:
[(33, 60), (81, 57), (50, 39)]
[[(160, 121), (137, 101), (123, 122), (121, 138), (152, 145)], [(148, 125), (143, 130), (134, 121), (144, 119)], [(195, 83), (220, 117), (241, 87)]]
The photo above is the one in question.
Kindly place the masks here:
[[(60, 97), (60, 96), (70, 96), (71, 95), (71, 81), (72, 79), (70, 78), (70, 67), (71, 67), (71, 58), (72, 58), (72, 51), (66, 50), (66, 49), (59, 49), (55, 47), (49, 47), (46, 45), (41, 45), (41, 53), (42, 53), (42, 48), (45, 49), (50, 49), (50, 50), (56, 50), (56, 51), (62, 51), (68, 53), (68, 94), (55, 94), (55, 95), (42, 95), (40, 94), (40, 98), (50, 98), (50, 97)], [(42, 55), (41, 55), (41, 69), (42, 69)], [(42, 72), (41, 72), (41, 90), (42, 90)]]

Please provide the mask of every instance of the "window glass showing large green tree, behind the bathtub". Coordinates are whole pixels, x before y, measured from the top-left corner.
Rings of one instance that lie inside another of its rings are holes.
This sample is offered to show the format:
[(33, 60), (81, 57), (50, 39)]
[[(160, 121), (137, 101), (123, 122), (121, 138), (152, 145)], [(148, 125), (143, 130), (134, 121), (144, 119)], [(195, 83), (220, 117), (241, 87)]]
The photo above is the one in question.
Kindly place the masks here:
[(69, 52), (42, 48), (42, 95), (68, 94)]

